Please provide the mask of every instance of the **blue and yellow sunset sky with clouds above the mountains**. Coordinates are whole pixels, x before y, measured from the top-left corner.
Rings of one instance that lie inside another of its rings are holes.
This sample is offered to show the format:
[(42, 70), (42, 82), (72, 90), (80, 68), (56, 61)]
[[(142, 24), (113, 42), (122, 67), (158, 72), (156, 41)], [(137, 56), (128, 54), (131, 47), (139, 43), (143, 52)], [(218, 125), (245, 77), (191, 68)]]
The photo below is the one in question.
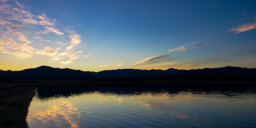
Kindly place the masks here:
[(0, 70), (256, 68), (255, 0), (0, 0)]

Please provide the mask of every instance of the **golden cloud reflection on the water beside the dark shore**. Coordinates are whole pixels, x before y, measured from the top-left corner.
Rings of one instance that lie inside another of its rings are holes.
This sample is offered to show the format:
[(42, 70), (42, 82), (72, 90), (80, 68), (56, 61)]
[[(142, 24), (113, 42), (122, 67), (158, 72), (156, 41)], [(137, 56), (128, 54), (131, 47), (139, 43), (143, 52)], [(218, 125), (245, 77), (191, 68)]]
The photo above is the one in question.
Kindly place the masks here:
[[(30, 108), (33, 108), (33, 105), (37, 104), (32, 104)], [(29, 111), (29, 116), (27, 116), (27, 121), (30, 122), (30, 127), (37, 127), (37, 125), (45, 127), (49, 122), (54, 122), (53, 125), (51, 124), (52, 126), (64, 127), (67, 122), (69, 123), (70, 128), (78, 128), (78, 119), (80, 118), (81, 113), (78, 111), (78, 108), (67, 100), (60, 99), (47, 106), (40, 105), (35, 107), (39, 107), (39, 110)]]

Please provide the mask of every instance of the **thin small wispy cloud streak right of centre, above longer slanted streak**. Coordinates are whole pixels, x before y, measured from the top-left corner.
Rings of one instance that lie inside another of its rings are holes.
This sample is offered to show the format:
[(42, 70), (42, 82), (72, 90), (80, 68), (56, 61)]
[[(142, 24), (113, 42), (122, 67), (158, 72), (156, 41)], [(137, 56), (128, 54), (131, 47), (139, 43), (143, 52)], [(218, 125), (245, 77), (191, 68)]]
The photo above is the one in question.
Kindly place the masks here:
[(206, 45), (209, 45), (209, 44), (212, 44), (212, 43), (209, 43), (209, 42), (193, 42), (193, 43), (190, 43), (190, 44), (186, 44), (186, 45), (183, 45), (183, 46), (180, 46), (180, 47), (177, 47), (177, 48), (172, 48), (172, 49), (168, 49), (168, 52), (175, 52), (175, 51), (185, 51), (187, 49), (191, 49), (191, 48), (195, 48), (195, 47), (202, 47), (202, 46), (206, 46)]

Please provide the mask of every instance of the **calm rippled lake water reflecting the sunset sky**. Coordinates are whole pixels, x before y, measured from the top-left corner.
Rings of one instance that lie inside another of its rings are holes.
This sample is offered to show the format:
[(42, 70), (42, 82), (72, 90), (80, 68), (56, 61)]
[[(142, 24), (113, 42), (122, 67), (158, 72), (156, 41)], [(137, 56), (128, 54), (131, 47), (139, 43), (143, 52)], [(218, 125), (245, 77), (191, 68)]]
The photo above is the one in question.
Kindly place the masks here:
[(250, 87), (36, 86), (27, 116), (30, 128), (256, 127), (256, 90)]

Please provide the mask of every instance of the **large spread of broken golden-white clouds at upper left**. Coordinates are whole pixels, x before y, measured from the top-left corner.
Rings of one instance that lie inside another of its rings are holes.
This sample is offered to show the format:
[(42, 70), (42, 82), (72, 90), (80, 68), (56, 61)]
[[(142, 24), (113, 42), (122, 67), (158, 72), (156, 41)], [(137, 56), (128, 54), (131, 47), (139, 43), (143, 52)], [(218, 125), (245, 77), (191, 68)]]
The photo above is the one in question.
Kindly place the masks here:
[[(61, 60), (61, 64), (72, 64), (82, 54), (81, 50), (77, 50), (81, 36), (75, 31), (62, 32), (55, 26), (55, 19), (47, 17), (44, 12), (41, 15), (34, 15), (26, 10), (22, 3), (12, 1), (7, 4), (6, 1), (0, 0), (0, 52), (22, 59), (47, 55), (51, 61)], [(56, 41), (54, 45), (49, 46), (51, 41), (44, 39), (49, 32), (60, 36), (67, 35), (70, 42)], [(38, 42), (41, 43), (41, 47), (35, 47), (38, 46)]]

